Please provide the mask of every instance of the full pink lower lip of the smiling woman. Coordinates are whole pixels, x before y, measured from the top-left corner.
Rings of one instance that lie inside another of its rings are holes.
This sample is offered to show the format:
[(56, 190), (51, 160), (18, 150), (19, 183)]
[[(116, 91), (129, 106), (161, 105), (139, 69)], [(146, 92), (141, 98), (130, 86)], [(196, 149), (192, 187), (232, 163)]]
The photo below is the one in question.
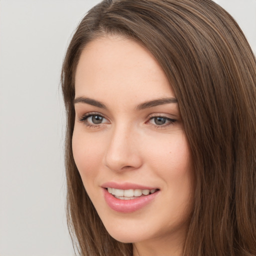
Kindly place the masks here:
[(108, 206), (115, 211), (127, 213), (139, 210), (145, 205), (149, 204), (155, 198), (158, 192), (159, 190), (152, 194), (141, 196), (135, 199), (123, 200), (115, 198), (107, 191), (107, 189), (103, 188), (104, 198)]

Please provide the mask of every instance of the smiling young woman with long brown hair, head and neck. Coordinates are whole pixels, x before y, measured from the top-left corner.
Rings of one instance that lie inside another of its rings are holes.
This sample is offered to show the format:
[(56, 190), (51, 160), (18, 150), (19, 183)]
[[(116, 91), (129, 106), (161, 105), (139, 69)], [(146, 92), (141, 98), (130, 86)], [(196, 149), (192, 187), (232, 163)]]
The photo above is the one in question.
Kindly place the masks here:
[(104, 0), (62, 68), (81, 255), (256, 255), (256, 63), (210, 0)]

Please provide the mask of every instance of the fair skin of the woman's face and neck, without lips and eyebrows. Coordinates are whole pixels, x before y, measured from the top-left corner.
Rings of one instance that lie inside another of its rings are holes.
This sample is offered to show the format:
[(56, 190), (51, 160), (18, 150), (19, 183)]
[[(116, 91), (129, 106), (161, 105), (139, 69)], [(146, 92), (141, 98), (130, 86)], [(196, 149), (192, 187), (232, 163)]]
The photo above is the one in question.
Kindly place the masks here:
[[(160, 65), (131, 39), (94, 39), (83, 49), (76, 69), (75, 98), (80, 97), (105, 106), (76, 100), (72, 137), (75, 163), (105, 228), (115, 239), (132, 242), (134, 256), (181, 255), (193, 176), (178, 104), (137, 109), (145, 101), (175, 98)], [(94, 116), (84, 116), (91, 112)], [(102, 116), (99, 123), (95, 115)], [(156, 116), (165, 123), (159, 124)], [(109, 181), (159, 191), (144, 207), (117, 212), (103, 197), (101, 186)]]

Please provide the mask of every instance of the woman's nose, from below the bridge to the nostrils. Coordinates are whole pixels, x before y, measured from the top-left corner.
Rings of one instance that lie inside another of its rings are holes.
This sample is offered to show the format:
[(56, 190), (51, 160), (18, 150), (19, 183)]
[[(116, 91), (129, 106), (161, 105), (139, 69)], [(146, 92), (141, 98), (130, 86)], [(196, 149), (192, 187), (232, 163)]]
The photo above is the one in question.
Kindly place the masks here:
[(132, 128), (115, 127), (111, 131), (104, 163), (113, 171), (137, 169), (142, 164), (138, 135)]

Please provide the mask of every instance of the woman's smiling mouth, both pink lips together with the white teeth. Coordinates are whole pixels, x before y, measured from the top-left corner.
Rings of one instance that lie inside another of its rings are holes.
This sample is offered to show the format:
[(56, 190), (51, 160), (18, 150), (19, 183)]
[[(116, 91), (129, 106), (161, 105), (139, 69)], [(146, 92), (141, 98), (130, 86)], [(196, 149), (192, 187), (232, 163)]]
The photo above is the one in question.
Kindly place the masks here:
[(158, 188), (131, 183), (108, 182), (101, 187), (107, 205), (123, 213), (141, 209), (152, 202), (159, 193)]

